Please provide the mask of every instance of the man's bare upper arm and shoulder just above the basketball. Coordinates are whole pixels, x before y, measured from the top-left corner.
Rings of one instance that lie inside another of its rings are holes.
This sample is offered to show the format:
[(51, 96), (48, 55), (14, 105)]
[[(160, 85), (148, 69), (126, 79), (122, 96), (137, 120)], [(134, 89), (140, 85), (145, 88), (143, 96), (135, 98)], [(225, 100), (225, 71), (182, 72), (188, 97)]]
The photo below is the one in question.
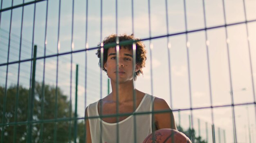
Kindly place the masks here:
[(171, 128), (177, 130), (173, 111), (168, 106), (165, 100), (161, 98), (155, 98), (154, 100), (154, 111), (168, 111), (164, 113), (155, 113), (155, 127), (156, 130), (163, 128)]

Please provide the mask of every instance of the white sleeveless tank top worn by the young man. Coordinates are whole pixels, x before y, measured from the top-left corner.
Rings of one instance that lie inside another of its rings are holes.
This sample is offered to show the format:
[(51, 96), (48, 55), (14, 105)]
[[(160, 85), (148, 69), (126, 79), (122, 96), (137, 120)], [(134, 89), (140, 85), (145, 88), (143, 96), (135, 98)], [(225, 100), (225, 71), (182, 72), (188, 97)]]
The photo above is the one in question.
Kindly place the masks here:
[[(135, 113), (151, 112), (154, 99), (154, 96), (145, 94)], [(99, 118), (98, 103), (88, 106), (88, 117), (97, 117), (89, 119), (92, 143), (142, 143), (152, 133), (152, 114), (130, 115), (118, 123), (107, 123)]]

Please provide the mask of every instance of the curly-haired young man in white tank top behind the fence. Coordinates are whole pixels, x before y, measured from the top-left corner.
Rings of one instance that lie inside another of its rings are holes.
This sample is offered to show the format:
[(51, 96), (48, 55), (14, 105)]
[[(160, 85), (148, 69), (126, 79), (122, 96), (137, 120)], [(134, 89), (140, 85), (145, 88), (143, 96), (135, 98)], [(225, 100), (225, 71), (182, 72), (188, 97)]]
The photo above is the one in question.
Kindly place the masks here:
[[(133, 35), (121, 35), (118, 38), (119, 41), (139, 40)], [(103, 44), (116, 43), (116, 39), (117, 35), (110, 35), (104, 39)], [(104, 48), (101, 69), (107, 72), (110, 78), (112, 92), (98, 102), (90, 104), (85, 110), (85, 116), (89, 117), (85, 121), (87, 143), (142, 143), (155, 130), (177, 130), (173, 113), (163, 99), (135, 89), (134, 80), (143, 73), (142, 68), (145, 67), (144, 44), (141, 41), (136, 42), (135, 67), (132, 53), (132, 44), (121, 45), (117, 63), (116, 48)], [(101, 65), (101, 48), (96, 54)], [(106, 115), (109, 116), (99, 117)]]

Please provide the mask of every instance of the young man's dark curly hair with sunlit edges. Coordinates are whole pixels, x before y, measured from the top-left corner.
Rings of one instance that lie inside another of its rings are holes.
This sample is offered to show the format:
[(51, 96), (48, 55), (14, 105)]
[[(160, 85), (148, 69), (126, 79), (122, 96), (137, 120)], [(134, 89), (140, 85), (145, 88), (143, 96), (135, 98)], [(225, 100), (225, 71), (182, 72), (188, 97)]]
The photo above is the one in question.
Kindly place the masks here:
[[(139, 76), (139, 74), (143, 74), (142, 68), (145, 67), (145, 63), (146, 63), (146, 49), (145, 49), (145, 45), (142, 41), (140, 41), (140, 39), (134, 38), (134, 35), (120, 35), (118, 36), (119, 41), (135, 41), (136, 44), (136, 64), (139, 65), (139, 70), (137, 72), (135, 72), (134, 74), (134, 80), (136, 80), (137, 76)], [(103, 40), (103, 45), (106, 44), (115, 44), (117, 41), (117, 35), (116, 34), (112, 34), (109, 35), (108, 37), (105, 37), (105, 39)], [(124, 48), (128, 48), (129, 50), (132, 50), (132, 41), (128, 42), (128, 44), (126, 45), (122, 45)], [(99, 58), (99, 66), (101, 67), (101, 43), (98, 44), (99, 48), (97, 49), (96, 55)], [(120, 49), (121, 47), (120, 46)], [(115, 47), (115, 46), (113, 46)], [(104, 48), (103, 50), (103, 65), (106, 63), (107, 61), (107, 57), (108, 57), (108, 49), (109, 48)], [(103, 67), (101, 67), (101, 69), (105, 72), (107, 72), (107, 70)]]

